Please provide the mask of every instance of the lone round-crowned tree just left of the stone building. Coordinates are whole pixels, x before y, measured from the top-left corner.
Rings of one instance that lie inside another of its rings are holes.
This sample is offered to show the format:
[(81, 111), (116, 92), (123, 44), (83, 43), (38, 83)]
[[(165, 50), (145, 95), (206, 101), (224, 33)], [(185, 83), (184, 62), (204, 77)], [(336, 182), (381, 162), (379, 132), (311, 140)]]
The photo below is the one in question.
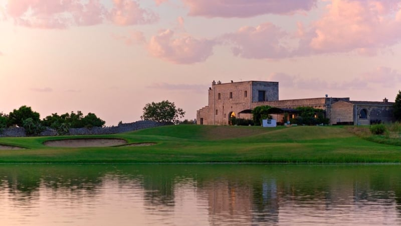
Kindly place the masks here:
[(156, 121), (159, 123), (175, 123), (184, 117), (185, 111), (176, 108), (174, 102), (163, 100), (161, 102), (146, 103), (143, 107), (142, 120)]

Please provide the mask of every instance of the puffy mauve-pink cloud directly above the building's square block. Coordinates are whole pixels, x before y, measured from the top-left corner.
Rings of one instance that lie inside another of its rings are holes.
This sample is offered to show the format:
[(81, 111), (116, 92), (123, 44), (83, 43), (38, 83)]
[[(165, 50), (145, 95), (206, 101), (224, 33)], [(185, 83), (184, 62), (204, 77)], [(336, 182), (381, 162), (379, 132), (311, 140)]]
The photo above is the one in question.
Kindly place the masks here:
[(242, 27), (235, 33), (226, 34), (227, 40), (234, 47), (235, 56), (244, 58), (285, 58), (289, 56), (289, 47), (283, 42), (288, 34), (271, 23), (258, 27)]

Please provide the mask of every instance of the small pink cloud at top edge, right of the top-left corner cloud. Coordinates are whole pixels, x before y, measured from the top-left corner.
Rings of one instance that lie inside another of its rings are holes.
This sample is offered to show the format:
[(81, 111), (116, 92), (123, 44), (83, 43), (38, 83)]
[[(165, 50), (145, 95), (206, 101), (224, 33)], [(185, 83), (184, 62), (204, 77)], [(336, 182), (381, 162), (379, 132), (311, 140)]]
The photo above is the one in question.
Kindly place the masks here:
[(141, 9), (132, 0), (113, 0), (114, 8), (108, 13), (108, 19), (117, 25), (151, 24), (159, 17), (150, 10)]

